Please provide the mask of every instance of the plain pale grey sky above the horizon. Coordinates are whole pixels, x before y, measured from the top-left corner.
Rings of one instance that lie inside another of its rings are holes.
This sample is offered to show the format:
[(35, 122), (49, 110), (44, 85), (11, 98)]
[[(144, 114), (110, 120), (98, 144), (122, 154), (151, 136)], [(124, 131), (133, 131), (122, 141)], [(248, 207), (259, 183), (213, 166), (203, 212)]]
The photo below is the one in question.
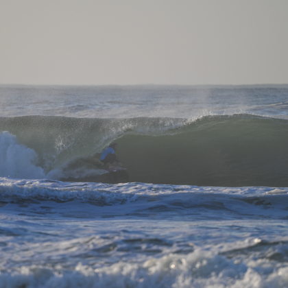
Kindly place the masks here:
[(288, 84), (287, 0), (0, 0), (0, 84)]

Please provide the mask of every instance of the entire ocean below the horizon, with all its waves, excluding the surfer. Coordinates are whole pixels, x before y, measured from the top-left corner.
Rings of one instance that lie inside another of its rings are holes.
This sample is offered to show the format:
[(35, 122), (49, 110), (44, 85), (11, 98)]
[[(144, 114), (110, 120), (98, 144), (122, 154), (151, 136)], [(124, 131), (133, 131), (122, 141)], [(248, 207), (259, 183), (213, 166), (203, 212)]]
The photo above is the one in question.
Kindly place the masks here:
[(288, 287), (288, 85), (0, 85), (0, 105), (0, 288)]

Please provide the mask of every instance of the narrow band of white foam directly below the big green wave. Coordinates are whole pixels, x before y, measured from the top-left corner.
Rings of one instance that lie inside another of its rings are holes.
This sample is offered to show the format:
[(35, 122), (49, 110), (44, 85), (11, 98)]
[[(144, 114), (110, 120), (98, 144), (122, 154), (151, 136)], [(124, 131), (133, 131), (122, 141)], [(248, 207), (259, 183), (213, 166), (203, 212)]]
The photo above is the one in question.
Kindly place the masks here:
[[(95, 182), (62, 182), (47, 179), (26, 180), (0, 177), (0, 190), (3, 197), (12, 195), (23, 198), (41, 197), (43, 196), (43, 191), (47, 191), (47, 197), (49, 197), (49, 195), (51, 197), (64, 197), (63, 199), (66, 200), (74, 199), (75, 197), (82, 199), (86, 193), (99, 193), (99, 191), (101, 191), (101, 193), (121, 193), (123, 195), (139, 196), (167, 195), (167, 197), (177, 197), (178, 194), (182, 193), (183, 195), (197, 194), (197, 197), (206, 200), (208, 200), (206, 195), (204, 195), (206, 193), (215, 195), (237, 195), (241, 200), (242, 197), (245, 196), (263, 196), (263, 199), (269, 199), (269, 201), (274, 199), (273, 195), (283, 194), (284, 196), (287, 193), (286, 189), (277, 188), (272, 191), (271, 189), (272, 188), (270, 187), (197, 187), (191, 185), (151, 184), (141, 182), (105, 184)], [(228, 197), (226, 197), (226, 199), (229, 200)]]

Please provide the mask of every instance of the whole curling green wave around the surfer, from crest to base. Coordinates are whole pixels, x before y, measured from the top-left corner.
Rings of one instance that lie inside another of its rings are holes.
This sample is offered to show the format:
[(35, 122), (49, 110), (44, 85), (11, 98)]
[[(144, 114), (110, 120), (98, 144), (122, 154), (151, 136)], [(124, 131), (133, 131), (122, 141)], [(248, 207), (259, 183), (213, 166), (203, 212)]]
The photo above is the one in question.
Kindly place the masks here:
[(99, 153), (117, 141), (130, 182), (288, 186), (285, 119), (3, 117), (0, 131), (2, 177), (109, 182)]

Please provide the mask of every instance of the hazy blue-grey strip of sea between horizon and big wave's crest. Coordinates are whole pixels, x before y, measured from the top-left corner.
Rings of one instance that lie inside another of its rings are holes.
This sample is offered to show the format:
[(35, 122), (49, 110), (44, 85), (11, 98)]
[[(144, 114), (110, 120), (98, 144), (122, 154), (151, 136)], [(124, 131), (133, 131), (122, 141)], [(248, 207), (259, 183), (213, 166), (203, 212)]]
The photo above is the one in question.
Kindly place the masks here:
[(237, 112), (288, 119), (288, 85), (0, 85), (0, 116), (200, 117)]

